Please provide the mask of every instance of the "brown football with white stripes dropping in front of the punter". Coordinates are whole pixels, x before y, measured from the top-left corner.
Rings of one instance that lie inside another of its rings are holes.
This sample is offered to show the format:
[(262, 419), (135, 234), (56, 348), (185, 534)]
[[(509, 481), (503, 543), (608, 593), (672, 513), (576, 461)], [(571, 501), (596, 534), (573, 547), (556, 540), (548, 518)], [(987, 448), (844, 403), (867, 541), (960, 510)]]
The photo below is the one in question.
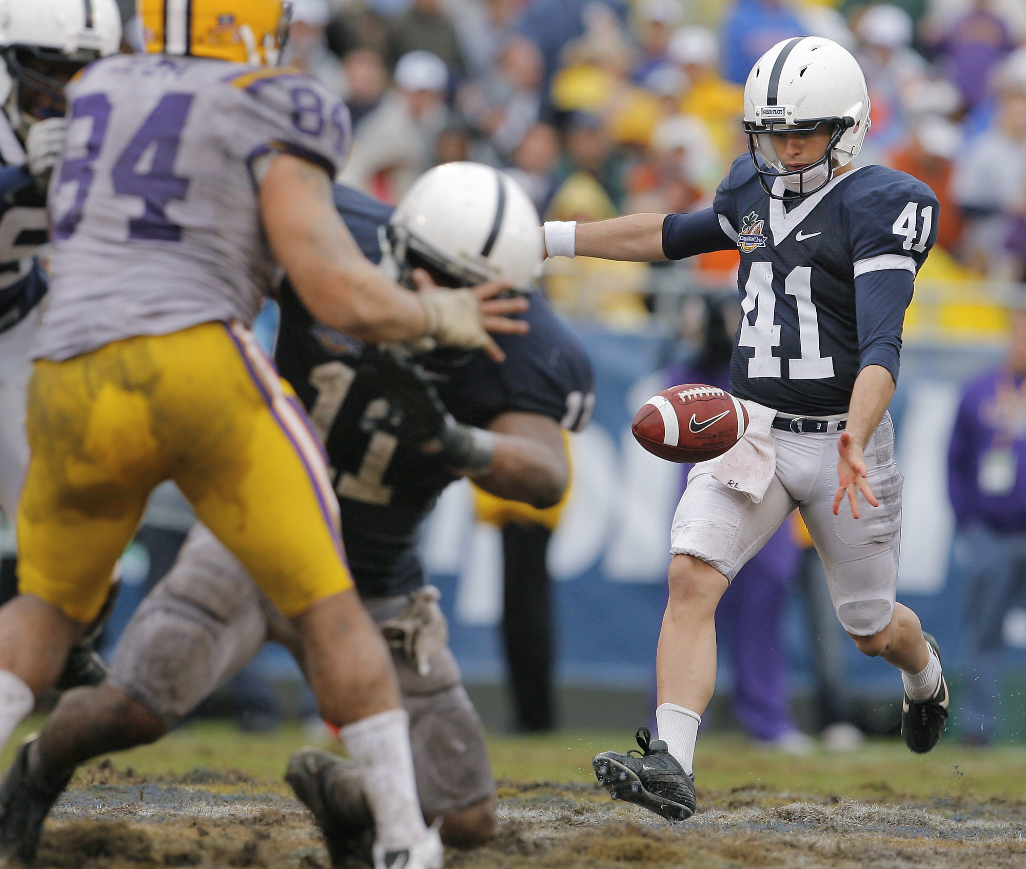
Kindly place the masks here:
[(745, 405), (705, 384), (683, 384), (649, 398), (631, 424), (645, 449), (667, 462), (705, 462), (722, 456), (748, 428)]

